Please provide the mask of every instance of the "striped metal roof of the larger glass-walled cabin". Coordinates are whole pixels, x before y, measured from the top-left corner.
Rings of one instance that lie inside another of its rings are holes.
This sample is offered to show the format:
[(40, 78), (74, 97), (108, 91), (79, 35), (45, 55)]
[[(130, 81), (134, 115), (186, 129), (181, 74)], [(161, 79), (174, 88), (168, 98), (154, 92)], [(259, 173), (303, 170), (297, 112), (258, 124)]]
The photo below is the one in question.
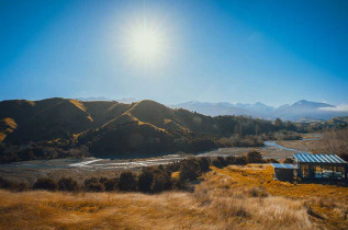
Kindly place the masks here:
[(305, 163), (347, 163), (337, 154), (308, 154), (308, 153), (295, 153), (293, 157), (299, 162)]

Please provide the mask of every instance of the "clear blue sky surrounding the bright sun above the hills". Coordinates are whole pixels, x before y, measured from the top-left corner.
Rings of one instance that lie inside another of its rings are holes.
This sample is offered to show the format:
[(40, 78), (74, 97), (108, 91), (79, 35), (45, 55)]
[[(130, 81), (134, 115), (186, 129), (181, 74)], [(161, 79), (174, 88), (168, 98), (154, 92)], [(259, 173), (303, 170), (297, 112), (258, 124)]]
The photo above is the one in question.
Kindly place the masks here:
[[(127, 55), (138, 20), (166, 35)], [(0, 0), (0, 100), (348, 104), (348, 1)]]

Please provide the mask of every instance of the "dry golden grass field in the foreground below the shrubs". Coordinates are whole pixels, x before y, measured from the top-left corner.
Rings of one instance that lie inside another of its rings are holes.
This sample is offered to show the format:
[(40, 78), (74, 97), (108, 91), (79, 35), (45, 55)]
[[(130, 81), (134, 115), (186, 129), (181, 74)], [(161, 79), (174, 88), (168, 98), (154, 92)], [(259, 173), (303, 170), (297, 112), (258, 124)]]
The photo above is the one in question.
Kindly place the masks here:
[(1, 229), (347, 229), (347, 216), (348, 187), (273, 181), (268, 164), (212, 168), (192, 193), (0, 191)]

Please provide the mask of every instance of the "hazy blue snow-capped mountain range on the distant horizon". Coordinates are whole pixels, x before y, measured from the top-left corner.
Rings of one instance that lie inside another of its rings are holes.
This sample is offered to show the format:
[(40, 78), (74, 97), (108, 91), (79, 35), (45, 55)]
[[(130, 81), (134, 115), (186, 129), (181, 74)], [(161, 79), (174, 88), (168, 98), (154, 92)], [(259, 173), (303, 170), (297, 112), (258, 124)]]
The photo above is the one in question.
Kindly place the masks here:
[(255, 104), (243, 103), (209, 103), (209, 102), (186, 102), (170, 105), (172, 108), (186, 108), (209, 116), (217, 115), (246, 115), (265, 119), (277, 117), (285, 120), (318, 120), (329, 119), (335, 116), (348, 116), (348, 111), (336, 110), (335, 105), (321, 102), (301, 100), (294, 104), (284, 104), (279, 107), (268, 106), (260, 102)]

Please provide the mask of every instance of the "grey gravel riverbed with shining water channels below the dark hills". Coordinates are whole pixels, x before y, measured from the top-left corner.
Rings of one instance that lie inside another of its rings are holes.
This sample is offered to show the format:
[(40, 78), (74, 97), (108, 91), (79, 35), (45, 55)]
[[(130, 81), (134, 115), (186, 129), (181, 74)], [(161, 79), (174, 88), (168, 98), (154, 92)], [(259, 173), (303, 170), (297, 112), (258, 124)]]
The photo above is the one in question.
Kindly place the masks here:
[[(298, 142), (316, 141), (319, 138), (303, 139)], [(291, 143), (291, 140), (281, 141), (284, 145)], [(265, 147), (232, 147), (220, 148), (216, 150), (203, 152), (200, 154), (168, 154), (157, 158), (146, 159), (98, 159), (98, 158), (79, 158), (79, 159), (52, 159), (52, 160), (34, 160), (22, 161), (7, 164), (0, 164), (0, 176), (12, 179), (15, 181), (25, 181), (32, 183), (37, 177), (43, 176), (78, 176), (81, 180), (86, 176), (114, 176), (115, 173), (124, 170), (138, 171), (143, 166), (154, 166), (159, 164), (168, 164), (181, 161), (188, 157), (228, 157), (228, 156), (246, 156), (248, 151), (260, 151), (265, 159), (273, 158), (277, 160), (291, 158), (293, 153), (301, 150), (287, 148), (278, 143), (278, 141), (265, 141)], [(302, 151), (301, 151), (302, 152)]]

